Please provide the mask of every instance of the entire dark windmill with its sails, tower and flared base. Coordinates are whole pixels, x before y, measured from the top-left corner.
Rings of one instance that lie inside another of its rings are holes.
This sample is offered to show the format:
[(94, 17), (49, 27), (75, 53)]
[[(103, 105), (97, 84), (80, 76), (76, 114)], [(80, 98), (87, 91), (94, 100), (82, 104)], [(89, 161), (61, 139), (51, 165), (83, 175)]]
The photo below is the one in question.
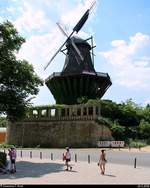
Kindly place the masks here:
[[(45, 84), (53, 94), (57, 104), (77, 104), (81, 97), (101, 98), (112, 84), (107, 73), (98, 73), (94, 69), (93, 48), (95, 46), (93, 46), (93, 37), (83, 40), (73, 36), (75, 32), (78, 33), (81, 30), (94, 5), (95, 1), (69, 35), (60, 23), (57, 23), (67, 39), (44, 68), (46, 69), (50, 65), (59, 52), (67, 51), (62, 72), (54, 72), (45, 80)], [(91, 40), (91, 45), (88, 43), (89, 40)], [(63, 49), (64, 46), (66, 46), (65, 49)]]

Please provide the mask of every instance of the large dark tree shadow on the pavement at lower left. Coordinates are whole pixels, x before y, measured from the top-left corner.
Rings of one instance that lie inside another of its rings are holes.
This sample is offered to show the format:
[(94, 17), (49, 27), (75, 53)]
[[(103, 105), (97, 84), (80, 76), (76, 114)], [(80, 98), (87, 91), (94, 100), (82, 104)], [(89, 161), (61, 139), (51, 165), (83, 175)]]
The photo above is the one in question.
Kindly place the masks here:
[(41, 177), (49, 173), (64, 171), (64, 164), (60, 163), (32, 163), (29, 161), (16, 162), (17, 172), (15, 174), (3, 174), (0, 179), (18, 179), (26, 177)]

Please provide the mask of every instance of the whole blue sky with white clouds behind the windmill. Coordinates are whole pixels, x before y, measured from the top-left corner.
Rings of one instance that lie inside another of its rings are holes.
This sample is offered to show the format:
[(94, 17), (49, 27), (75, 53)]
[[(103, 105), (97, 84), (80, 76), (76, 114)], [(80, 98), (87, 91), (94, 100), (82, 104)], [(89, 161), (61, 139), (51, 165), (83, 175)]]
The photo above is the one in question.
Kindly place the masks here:
[[(68, 33), (91, 5), (92, 0), (0, 0), (0, 22), (10, 20), (26, 38), (18, 58), (33, 64), (36, 73), (47, 78), (62, 70), (65, 56), (59, 54), (44, 66)], [(107, 72), (112, 86), (103, 96), (115, 102), (132, 98), (140, 105), (150, 103), (150, 1), (97, 0), (79, 36), (93, 35), (97, 72)], [(55, 104), (44, 85), (32, 101), (35, 105)]]

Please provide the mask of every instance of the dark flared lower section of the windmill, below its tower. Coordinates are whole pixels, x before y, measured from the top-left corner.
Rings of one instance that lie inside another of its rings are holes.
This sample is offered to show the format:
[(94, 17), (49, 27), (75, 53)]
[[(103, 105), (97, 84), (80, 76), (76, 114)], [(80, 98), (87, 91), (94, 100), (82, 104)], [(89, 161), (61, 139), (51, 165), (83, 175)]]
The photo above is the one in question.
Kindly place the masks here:
[(107, 73), (67, 74), (53, 73), (45, 81), (53, 94), (56, 104), (77, 104), (80, 97), (101, 98), (110, 87)]

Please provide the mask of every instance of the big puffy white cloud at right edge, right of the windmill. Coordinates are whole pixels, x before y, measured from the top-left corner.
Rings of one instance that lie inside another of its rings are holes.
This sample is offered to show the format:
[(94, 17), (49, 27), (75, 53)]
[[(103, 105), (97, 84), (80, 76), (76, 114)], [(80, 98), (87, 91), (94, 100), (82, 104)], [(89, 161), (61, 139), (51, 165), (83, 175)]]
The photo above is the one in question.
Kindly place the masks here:
[(143, 49), (150, 47), (150, 37), (136, 33), (129, 42), (114, 40), (112, 50), (100, 52), (107, 62), (112, 65), (114, 81), (126, 87), (149, 88), (150, 66), (149, 57), (143, 56)]

